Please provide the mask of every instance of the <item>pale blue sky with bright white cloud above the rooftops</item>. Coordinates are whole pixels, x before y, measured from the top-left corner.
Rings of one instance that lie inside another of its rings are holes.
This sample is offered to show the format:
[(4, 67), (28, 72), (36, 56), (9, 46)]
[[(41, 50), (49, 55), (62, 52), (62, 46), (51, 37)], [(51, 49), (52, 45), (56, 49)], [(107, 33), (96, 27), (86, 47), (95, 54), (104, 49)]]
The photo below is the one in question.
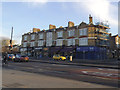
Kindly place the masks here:
[(2, 2), (2, 34), (9, 37), (12, 26), (13, 39), (18, 44), (24, 33), (32, 28), (48, 29), (49, 24), (56, 27), (68, 26), (69, 21), (79, 25), (82, 21), (89, 23), (89, 14), (94, 24), (108, 21), (110, 33), (118, 34), (118, 2), (98, 0), (96, 2)]

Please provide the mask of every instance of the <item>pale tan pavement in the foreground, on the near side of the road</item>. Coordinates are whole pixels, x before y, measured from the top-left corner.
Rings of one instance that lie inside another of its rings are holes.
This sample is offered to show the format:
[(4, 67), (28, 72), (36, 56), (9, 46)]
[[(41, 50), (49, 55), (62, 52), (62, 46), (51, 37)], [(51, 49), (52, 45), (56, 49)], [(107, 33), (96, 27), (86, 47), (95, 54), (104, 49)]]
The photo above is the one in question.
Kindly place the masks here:
[(2, 88), (114, 88), (60, 77), (3, 69)]

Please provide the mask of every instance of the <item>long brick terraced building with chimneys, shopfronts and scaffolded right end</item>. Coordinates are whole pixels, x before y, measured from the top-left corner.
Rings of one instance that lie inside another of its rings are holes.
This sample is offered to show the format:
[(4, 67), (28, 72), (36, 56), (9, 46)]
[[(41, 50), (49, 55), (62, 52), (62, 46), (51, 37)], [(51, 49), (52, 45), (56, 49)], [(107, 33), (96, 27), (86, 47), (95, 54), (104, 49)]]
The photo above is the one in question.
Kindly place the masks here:
[(76, 59), (106, 59), (110, 56), (109, 26), (103, 23), (74, 25), (67, 27), (49, 25), (48, 30), (33, 28), (22, 35), (21, 53), (32, 57), (52, 57), (54, 54), (72, 55)]

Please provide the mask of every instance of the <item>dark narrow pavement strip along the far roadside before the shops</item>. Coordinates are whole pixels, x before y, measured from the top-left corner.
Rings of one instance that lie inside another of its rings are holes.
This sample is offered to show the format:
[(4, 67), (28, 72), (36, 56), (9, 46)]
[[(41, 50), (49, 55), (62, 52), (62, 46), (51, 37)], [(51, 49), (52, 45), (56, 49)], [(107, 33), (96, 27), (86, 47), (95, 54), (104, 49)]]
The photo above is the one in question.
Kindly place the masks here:
[[(78, 60), (77, 60), (78, 61)], [(52, 63), (52, 64), (64, 64), (64, 65), (76, 65), (76, 66), (88, 66), (88, 67), (100, 67), (100, 68), (112, 68), (112, 69), (120, 69), (119, 61), (117, 60), (107, 60), (107, 61), (98, 61), (98, 60), (79, 60), (79, 62), (74, 61), (60, 61), (53, 60), (52, 58), (41, 58), (34, 59), (31, 58), (30, 62), (41, 62), (41, 63)], [(107, 62), (107, 64), (106, 64)], [(111, 65), (111, 63), (114, 63)]]

